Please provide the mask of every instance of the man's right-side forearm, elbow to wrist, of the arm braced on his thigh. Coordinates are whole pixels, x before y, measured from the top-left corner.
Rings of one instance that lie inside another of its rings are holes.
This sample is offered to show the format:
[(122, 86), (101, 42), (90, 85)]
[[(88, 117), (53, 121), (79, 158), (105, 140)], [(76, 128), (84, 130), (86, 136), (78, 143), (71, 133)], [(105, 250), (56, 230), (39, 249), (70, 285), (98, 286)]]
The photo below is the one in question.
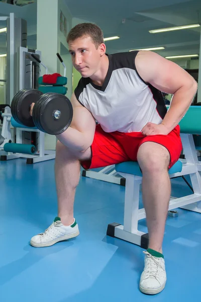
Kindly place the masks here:
[(190, 88), (181, 87), (173, 95), (170, 108), (162, 121), (162, 124), (168, 129), (168, 133), (176, 127), (185, 115), (192, 103), (196, 90), (197, 84), (194, 82)]

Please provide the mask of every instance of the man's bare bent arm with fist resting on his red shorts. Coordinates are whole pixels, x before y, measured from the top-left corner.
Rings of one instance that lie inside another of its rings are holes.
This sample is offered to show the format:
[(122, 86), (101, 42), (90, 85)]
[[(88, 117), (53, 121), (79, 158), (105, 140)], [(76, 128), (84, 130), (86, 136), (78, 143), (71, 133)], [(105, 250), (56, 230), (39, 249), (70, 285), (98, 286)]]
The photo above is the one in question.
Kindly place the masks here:
[(148, 123), (144, 135), (168, 134), (188, 110), (197, 90), (197, 83), (187, 71), (151, 51), (140, 51), (135, 64), (141, 78), (158, 90), (173, 94), (170, 108), (161, 124)]

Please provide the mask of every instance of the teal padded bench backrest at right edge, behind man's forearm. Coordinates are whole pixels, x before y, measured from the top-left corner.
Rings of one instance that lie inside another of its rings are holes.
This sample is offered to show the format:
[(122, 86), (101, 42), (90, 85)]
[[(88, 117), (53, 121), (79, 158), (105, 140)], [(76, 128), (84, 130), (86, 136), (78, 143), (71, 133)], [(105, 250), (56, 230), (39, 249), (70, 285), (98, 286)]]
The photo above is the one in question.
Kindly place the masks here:
[[(167, 106), (169, 109), (169, 106)], [(201, 106), (190, 106), (184, 117), (180, 120), (180, 132), (188, 134), (201, 134)]]

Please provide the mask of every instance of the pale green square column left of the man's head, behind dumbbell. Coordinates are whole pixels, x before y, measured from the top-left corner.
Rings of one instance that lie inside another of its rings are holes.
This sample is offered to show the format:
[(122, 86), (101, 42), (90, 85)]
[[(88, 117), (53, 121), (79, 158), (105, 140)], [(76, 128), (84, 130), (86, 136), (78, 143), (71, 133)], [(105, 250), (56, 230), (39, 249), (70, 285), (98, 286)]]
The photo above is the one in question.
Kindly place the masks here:
[[(72, 16), (64, 0), (37, 2), (37, 50), (41, 51), (41, 61), (47, 66), (48, 74), (58, 72), (63, 75), (63, 66), (56, 54), (58, 52), (61, 55), (67, 69), (66, 96), (69, 99), (72, 93), (72, 62), (68, 54), (66, 37), (71, 27)], [(45, 72), (41, 65), (41, 75)], [(56, 136), (45, 134), (45, 149), (55, 149), (55, 146)]]

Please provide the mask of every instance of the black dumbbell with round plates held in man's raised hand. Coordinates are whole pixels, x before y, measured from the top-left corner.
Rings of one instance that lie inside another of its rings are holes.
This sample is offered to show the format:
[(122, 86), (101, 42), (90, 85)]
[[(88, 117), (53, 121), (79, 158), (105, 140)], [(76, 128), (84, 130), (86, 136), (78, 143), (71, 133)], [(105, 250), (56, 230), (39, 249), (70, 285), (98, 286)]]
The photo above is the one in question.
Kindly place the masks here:
[[(35, 105), (31, 116), (32, 103)], [(22, 89), (12, 100), (11, 113), (19, 124), (27, 127), (36, 126), (42, 132), (57, 135), (69, 127), (73, 109), (70, 100), (64, 95)]]

